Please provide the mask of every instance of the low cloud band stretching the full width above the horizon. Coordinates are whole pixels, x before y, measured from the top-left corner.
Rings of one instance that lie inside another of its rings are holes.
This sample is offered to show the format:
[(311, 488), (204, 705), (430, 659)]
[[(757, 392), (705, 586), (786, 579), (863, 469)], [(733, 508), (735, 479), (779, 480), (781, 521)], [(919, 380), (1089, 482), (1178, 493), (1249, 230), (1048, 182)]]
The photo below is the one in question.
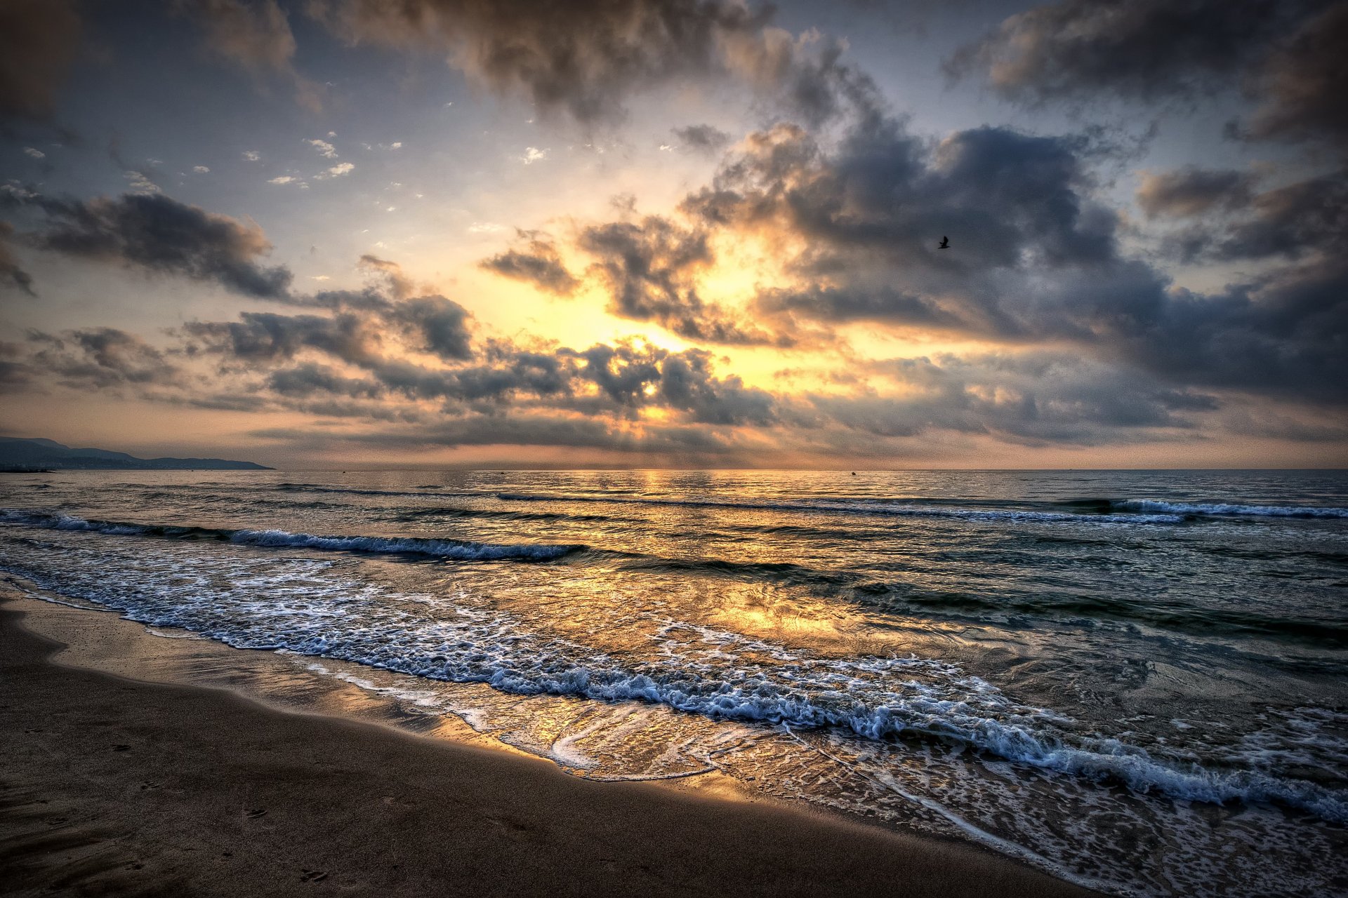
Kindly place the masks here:
[[(290, 302), (315, 311), (191, 322), (167, 350), (112, 329), (34, 333), (27, 354), (0, 346), (0, 377), (30, 385), (53, 378), (73, 389), (137, 388), (142, 399), (198, 408), (290, 409), (406, 425), (342, 431), (383, 446), (590, 447), (693, 454), (708, 463), (752, 463), (767, 448), (882, 458), (925, 446), (933, 435), (1029, 447), (1192, 440), (1223, 420), (1240, 434), (1282, 420), (1308, 442), (1343, 432), (1333, 412), (1321, 412), (1317, 425), (1306, 405), (1274, 412), (1236, 401), (1228, 408), (1231, 400), (1174, 386), (1157, 372), (1074, 351), (859, 362), (848, 390), (791, 396), (717, 373), (712, 354), (698, 349), (675, 353), (640, 341), (586, 349), (473, 343), (466, 312), (441, 296), (395, 300), (367, 288)], [(400, 346), (437, 359), (421, 364)], [(218, 361), (210, 376), (198, 373), (206, 359)]]

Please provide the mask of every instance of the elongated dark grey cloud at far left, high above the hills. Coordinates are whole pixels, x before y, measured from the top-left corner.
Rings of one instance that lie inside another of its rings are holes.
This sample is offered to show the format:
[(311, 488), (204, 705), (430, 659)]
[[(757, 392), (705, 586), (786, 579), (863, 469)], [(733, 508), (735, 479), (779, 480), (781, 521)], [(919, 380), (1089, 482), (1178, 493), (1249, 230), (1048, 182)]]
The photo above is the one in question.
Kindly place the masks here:
[(260, 228), (162, 194), (78, 201), (9, 191), (0, 202), (43, 214), (24, 234), (39, 249), (216, 281), (257, 299), (283, 299), (290, 288), (290, 269), (260, 264), (271, 250)]

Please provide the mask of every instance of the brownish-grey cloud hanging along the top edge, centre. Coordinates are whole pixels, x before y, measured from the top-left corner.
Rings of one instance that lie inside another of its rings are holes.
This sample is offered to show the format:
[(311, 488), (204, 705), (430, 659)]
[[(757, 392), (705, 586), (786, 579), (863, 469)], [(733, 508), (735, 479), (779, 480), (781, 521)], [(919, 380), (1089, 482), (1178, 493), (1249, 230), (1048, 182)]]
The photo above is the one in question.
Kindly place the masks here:
[(770, 27), (743, 0), (311, 0), (310, 15), (350, 43), (445, 57), (473, 81), (541, 112), (613, 123), (627, 98), (670, 82), (732, 75), (820, 123), (869, 81), (847, 44)]

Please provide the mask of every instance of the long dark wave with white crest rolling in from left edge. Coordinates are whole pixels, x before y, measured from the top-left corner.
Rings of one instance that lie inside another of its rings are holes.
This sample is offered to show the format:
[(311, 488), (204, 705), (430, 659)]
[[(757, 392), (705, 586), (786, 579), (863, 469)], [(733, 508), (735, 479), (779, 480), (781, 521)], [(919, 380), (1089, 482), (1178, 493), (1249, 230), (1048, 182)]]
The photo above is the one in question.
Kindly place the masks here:
[(50, 530), (92, 530), (112, 536), (159, 536), (168, 539), (216, 539), (241, 545), (272, 548), (305, 548), (330, 552), (367, 552), (373, 555), (421, 555), (458, 561), (551, 561), (584, 545), (501, 544), (473, 543), (470, 540), (429, 540), (421, 537), (387, 536), (318, 536), (268, 529), (228, 529), (205, 526), (175, 526), (167, 524), (132, 524), (98, 521), (70, 514), (0, 510), (0, 524), (16, 524)]

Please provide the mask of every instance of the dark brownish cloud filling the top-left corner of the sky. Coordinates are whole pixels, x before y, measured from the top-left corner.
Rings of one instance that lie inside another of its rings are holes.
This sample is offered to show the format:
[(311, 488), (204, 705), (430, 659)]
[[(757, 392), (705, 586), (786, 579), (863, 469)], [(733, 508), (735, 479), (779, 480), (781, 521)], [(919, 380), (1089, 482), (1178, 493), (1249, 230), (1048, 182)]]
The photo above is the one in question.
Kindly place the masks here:
[(80, 38), (70, 0), (0, 3), (0, 117), (50, 118)]

